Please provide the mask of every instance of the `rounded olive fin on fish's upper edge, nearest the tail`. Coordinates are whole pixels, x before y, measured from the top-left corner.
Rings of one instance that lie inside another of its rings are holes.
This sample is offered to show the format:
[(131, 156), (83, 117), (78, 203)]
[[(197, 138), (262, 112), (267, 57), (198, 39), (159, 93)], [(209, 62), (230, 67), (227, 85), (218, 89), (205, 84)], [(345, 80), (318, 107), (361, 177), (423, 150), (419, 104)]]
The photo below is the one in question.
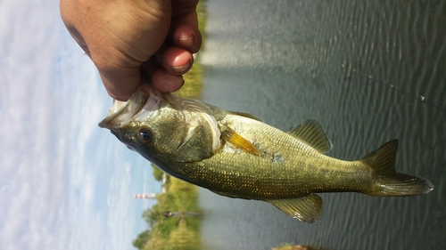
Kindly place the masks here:
[(332, 142), (326, 137), (326, 133), (317, 120), (308, 120), (288, 132), (295, 138), (307, 142), (320, 153), (326, 153), (333, 148)]

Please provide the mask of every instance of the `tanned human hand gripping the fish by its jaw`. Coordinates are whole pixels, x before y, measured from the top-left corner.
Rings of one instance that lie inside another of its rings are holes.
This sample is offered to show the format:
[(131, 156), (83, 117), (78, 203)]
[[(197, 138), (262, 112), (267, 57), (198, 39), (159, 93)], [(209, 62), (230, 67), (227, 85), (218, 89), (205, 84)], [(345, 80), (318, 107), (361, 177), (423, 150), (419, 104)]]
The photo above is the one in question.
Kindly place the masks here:
[[(173, 92), (194, 63), (202, 36), (198, 0), (61, 0), (62, 20), (93, 60), (111, 97), (138, 85)], [(168, 38), (169, 35), (169, 38)]]

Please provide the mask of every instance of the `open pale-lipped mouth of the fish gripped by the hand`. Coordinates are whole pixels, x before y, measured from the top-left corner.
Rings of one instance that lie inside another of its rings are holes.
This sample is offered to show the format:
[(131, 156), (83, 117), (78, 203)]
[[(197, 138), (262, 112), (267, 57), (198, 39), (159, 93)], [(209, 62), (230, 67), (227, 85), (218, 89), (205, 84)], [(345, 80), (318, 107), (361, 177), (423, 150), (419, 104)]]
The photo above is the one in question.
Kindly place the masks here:
[(136, 92), (128, 99), (128, 101), (113, 100), (113, 104), (109, 109), (107, 117), (99, 123), (102, 128), (108, 128), (111, 131), (126, 124), (134, 117), (143, 107), (153, 90), (150, 87), (139, 87)]

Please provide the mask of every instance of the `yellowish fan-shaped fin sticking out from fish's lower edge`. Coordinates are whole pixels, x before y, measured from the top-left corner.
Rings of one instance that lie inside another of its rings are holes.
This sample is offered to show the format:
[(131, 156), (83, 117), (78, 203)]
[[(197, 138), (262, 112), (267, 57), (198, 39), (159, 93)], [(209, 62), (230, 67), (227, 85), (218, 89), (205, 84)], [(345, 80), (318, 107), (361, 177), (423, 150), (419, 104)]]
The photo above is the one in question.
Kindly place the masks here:
[(322, 198), (310, 194), (301, 198), (266, 200), (285, 214), (302, 222), (316, 223), (322, 217)]

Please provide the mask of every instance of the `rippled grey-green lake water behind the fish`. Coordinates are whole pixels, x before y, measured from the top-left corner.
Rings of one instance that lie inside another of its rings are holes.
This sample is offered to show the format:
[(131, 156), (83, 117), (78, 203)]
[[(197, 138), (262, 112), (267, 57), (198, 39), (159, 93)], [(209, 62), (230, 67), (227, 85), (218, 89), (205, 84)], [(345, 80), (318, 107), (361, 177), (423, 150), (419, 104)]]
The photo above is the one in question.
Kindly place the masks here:
[(396, 170), (435, 189), (409, 198), (321, 194), (318, 224), (200, 190), (203, 249), (446, 249), (444, 1), (209, 0), (203, 100), (287, 131), (316, 118), (330, 156), (394, 138)]

